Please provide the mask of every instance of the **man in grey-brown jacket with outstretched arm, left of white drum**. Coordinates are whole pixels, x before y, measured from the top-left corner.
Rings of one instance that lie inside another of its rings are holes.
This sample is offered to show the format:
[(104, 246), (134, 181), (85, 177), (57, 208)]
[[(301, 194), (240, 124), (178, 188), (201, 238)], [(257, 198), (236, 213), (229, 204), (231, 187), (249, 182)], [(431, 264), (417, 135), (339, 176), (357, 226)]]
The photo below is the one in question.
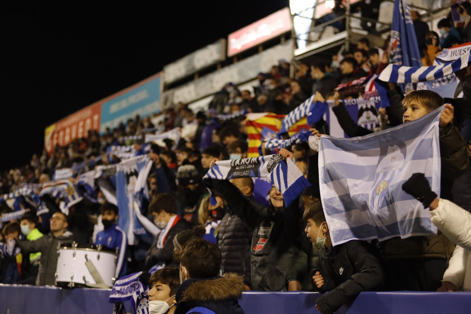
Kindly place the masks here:
[(41, 252), (37, 286), (53, 286), (56, 284), (57, 268), (57, 245), (61, 243), (72, 243), (73, 233), (67, 231), (67, 216), (58, 211), (50, 219), (51, 232), (34, 241), (17, 241), (22, 252)]

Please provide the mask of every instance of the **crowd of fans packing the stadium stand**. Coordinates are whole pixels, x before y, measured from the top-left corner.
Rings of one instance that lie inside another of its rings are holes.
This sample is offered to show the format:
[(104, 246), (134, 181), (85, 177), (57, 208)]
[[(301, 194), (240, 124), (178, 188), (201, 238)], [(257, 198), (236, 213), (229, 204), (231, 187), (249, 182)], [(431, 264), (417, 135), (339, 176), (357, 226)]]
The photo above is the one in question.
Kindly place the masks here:
[[(463, 2), (459, 14), (471, 16), (470, 7)], [(432, 65), (443, 48), (471, 39), (469, 18), (460, 29), (453, 27), (453, 19), (443, 19), (439, 35), (423, 25), (418, 12), (412, 11), (411, 16), (423, 65)], [(127, 245), (126, 233), (117, 225), (120, 210), (100, 188), (90, 194), (78, 185), (78, 193), (89, 197), (66, 209), (62, 198), (39, 196), (38, 191), (34, 197), (40, 198), (41, 206), (29, 196), (19, 196), (9, 205), (3, 201), (0, 214), (26, 212), (3, 222), (0, 282), (54, 285), (57, 244), (75, 241), (118, 248), (118, 278), (156, 269), (141, 276), (151, 286), (147, 293), (150, 313), (187, 313), (195, 306), (216, 313), (227, 313), (227, 309), (243, 313), (237, 298), (244, 290), (331, 291), (316, 301), (321, 313), (333, 313), (361, 291), (471, 290), (470, 64), (455, 72), (463, 98), (444, 99), (428, 90), (405, 95), (398, 85), (389, 83), (391, 105), (378, 113), (378, 120), (386, 121), (385, 129), (449, 104), (439, 124), (440, 198), (423, 175), (411, 173), (403, 186), (424, 208), (430, 208), (431, 221), (439, 228), (437, 235), (382, 242), (353, 240), (333, 246), (320, 200), (317, 152), (306, 142), (278, 152), (284, 160), (294, 161), (311, 185), (289, 206), (275, 186), (260, 178), (211, 179), (215, 204), (202, 184), (216, 161), (247, 157), (246, 118), (237, 115), (241, 111), (288, 114), (315, 95), (314, 102), (334, 101), (332, 111), (349, 137), (372, 133), (357, 125), (341, 102), (361, 97), (362, 91), (336, 88), (380, 74), (388, 63), (389, 41), (384, 47), (371, 47), (367, 38), (359, 40), (355, 50), (334, 55), (331, 64), (301, 63), (293, 77), (290, 63), (280, 60), (269, 72), (258, 75), (253, 92), (225, 84), (206, 112), (194, 113), (180, 103), (161, 113), (159, 125), (151, 117), (136, 116), (104, 134), (89, 131), (86, 138), (65, 147), (57, 145), (50, 155), (46, 151), (34, 154), (29, 164), (3, 171), (0, 194), (12, 193), (24, 184), (48, 182), (57, 169), (73, 168), (80, 174), (119, 163), (125, 157), (110, 153), (109, 148), (131, 145), (136, 154), (148, 154), (153, 162), (147, 177), (148, 199), (143, 199), (141, 210), (161, 231)], [(234, 114), (234, 118), (218, 119), (223, 114)], [(310, 127), (313, 136), (329, 134), (322, 119)], [(175, 128), (182, 130), (176, 142), (144, 143), (146, 133)], [(184, 135), (185, 128), (191, 131)], [(271, 154), (265, 149), (264, 153)], [(110, 178), (105, 179), (113, 185)], [(70, 180), (77, 183), (76, 176)]]

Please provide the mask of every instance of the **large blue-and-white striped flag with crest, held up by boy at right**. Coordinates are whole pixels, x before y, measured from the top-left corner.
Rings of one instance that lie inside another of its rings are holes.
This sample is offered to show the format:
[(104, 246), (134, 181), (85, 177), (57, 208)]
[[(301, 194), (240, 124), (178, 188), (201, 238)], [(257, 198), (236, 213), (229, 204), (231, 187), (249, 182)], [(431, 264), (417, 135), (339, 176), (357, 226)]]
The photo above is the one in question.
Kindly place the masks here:
[(401, 185), (422, 172), (440, 194), (438, 124), (443, 107), (365, 137), (321, 137), (320, 193), (333, 245), (437, 232), (429, 211)]

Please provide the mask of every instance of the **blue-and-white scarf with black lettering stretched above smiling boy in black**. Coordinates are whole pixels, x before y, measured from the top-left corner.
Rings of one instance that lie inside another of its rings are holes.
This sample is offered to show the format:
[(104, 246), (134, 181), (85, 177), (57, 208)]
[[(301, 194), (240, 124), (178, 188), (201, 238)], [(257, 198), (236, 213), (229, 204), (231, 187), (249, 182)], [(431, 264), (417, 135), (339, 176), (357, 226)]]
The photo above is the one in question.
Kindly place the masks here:
[[(210, 179), (228, 180), (240, 177), (266, 177), (283, 194), (285, 206), (289, 206), (310, 186), (294, 162), (291, 159), (284, 161), (281, 155), (217, 161), (203, 177), (203, 183), (211, 193)], [(212, 195), (211, 204), (216, 204)]]

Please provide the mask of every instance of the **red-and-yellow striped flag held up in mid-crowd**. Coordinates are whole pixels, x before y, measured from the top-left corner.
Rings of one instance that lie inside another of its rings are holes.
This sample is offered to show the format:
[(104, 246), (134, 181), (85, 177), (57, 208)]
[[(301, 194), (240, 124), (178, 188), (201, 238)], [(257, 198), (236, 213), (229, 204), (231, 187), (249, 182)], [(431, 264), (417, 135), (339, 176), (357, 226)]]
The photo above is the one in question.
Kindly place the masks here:
[[(262, 140), (276, 138), (281, 129), (283, 114), (275, 113), (249, 113), (246, 118), (247, 136), (249, 138), (249, 150), (247, 157), (260, 156), (259, 147)], [(302, 130), (307, 130), (306, 117), (296, 121), (288, 130), (288, 135), (292, 136)]]

